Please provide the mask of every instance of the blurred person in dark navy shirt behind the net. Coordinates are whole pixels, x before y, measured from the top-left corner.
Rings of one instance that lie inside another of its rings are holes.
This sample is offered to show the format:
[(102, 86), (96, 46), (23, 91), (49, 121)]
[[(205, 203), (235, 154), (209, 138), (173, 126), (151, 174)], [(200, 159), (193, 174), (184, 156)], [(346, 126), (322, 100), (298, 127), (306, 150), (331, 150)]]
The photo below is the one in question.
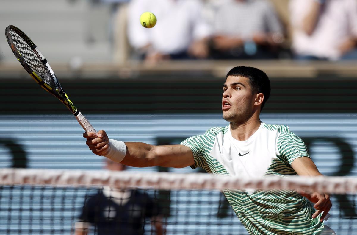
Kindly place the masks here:
[[(105, 161), (107, 170), (125, 170), (125, 165), (110, 159)], [(159, 207), (147, 194), (103, 187), (86, 200), (75, 225), (76, 235), (86, 235), (91, 227), (98, 235), (141, 235), (146, 218), (151, 218), (156, 234), (163, 234)]]

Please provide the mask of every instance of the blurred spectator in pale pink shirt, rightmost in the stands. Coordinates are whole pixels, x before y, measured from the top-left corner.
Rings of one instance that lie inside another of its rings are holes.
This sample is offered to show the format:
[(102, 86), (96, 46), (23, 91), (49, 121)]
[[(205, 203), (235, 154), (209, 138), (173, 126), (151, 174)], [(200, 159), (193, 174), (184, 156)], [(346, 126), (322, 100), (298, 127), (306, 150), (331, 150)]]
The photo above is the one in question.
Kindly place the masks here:
[(356, 0), (291, 0), (298, 59), (357, 59)]

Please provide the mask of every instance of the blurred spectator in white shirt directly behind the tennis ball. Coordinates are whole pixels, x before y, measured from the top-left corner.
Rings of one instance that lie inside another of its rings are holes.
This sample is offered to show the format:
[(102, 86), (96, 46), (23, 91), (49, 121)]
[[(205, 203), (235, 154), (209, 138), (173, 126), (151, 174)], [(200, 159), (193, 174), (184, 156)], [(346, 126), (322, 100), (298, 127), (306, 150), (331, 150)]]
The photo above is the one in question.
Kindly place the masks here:
[[(202, 17), (198, 0), (132, 0), (128, 11), (128, 38), (147, 62), (165, 59), (206, 58), (210, 26)], [(146, 29), (140, 15), (151, 11), (157, 24)]]

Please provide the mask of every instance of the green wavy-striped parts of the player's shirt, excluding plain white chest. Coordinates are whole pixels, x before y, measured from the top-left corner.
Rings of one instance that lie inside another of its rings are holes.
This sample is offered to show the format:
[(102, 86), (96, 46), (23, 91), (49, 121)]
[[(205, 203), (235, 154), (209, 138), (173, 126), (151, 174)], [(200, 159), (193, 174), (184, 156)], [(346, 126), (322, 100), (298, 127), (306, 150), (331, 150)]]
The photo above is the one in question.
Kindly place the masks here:
[[(226, 134), (226, 127), (213, 127), (205, 134), (190, 137), (181, 144), (191, 148), (195, 165), (216, 175), (228, 175), (227, 170), (209, 153), (218, 133)], [(297, 157), (309, 157), (300, 137), (284, 125), (263, 124), (265, 129), (278, 131), (276, 140), (279, 155), (265, 175), (286, 177), (296, 175), (291, 162)], [(241, 190), (223, 190), (228, 202), (249, 234), (318, 234), (323, 230), (320, 216), (312, 219), (315, 212), (310, 202), (296, 191), (256, 190), (253, 194)]]

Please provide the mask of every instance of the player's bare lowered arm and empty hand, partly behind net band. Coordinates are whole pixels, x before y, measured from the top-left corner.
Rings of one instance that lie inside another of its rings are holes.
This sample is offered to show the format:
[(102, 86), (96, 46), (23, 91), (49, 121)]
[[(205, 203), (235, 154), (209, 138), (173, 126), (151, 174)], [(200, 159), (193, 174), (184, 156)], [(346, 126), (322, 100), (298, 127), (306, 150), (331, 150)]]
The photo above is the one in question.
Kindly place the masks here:
[[(322, 174), (317, 170), (315, 163), (310, 157), (298, 157), (291, 163), (292, 168), (300, 176), (321, 176)], [(323, 192), (298, 192), (302, 196), (306, 197), (309, 201), (315, 203), (314, 208), (316, 212), (312, 215), (312, 218), (316, 218), (317, 215), (323, 214), (320, 218), (322, 222), (328, 211), (330, 211), (332, 203), (330, 200), (330, 195)]]

